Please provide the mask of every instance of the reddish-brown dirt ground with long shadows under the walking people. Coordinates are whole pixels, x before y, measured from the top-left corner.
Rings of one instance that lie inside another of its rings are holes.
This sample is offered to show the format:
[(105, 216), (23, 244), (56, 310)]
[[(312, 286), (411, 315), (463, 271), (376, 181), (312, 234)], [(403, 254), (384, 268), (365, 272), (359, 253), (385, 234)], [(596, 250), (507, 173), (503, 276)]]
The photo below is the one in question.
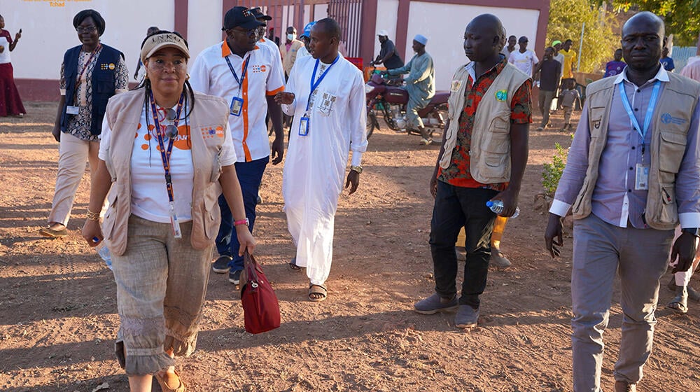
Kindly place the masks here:
[[(113, 357), (118, 328), (113, 276), (80, 237), (88, 175), (70, 234), (37, 233), (51, 206), (57, 143), (55, 104), (26, 104), (23, 118), (0, 118), (0, 390), (127, 391)], [(561, 126), (561, 116), (553, 116)], [(533, 127), (534, 130), (535, 127)], [(281, 165), (261, 190), (255, 253), (279, 297), (281, 328), (244, 331), (239, 293), (211, 274), (197, 351), (178, 360), (190, 391), (570, 391), (570, 237), (557, 260), (545, 253), (546, 215), (533, 210), (542, 163), (570, 135), (531, 132), (521, 215), (503, 250), (513, 266), (491, 269), (478, 328), (454, 315), (422, 316), (412, 305), (433, 292), (428, 247), (428, 179), (438, 146), (379, 130), (365, 154), (356, 195), (340, 197), (329, 297), (307, 300), (304, 274), (289, 272), (293, 246), (282, 212)], [(461, 276), (461, 272), (459, 274)], [(668, 281), (664, 276), (663, 282)], [(699, 287), (694, 279), (695, 287)], [(619, 290), (605, 334), (603, 387), (612, 388), (622, 314)], [(664, 308), (654, 353), (638, 391), (700, 391), (700, 304), (685, 316)], [(158, 387), (154, 388), (158, 391)]]

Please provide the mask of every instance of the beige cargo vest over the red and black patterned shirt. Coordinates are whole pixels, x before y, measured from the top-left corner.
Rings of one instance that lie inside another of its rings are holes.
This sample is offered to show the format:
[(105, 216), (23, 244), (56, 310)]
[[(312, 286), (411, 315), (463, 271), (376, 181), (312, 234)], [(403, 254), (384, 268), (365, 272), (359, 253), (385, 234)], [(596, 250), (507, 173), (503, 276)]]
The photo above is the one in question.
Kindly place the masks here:
[[(468, 78), (466, 66), (459, 67), (452, 78), (448, 101), (449, 127), (444, 153), (440, 158), (442, 169), (447, 169), (452, 160)], [(528, 78), (512, 64), (505, 64), (479, 102), (469, 151), (469, 172), (479, 183), (510, 181), (510, 103), (515, 92)]]

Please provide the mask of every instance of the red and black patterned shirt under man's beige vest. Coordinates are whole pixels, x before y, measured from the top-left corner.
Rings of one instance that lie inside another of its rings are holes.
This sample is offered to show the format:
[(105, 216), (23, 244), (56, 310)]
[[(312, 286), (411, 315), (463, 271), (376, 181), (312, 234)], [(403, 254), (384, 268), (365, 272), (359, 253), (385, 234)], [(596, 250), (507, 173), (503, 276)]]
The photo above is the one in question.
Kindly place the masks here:
[[(449, 183), (452, 186), (460, 186), (464, 188), (486, 188), (497, 190), (498, 192), (507, 188), (507, 183), (482, 184), (472, 178), (469, 172), (470, 156), (469, 150), (472, 144), (472, 130), (474, 128), (474, 120), (482, 97), (489, 90), (493, 80), (503, 70), (507, 64), (505, 59), (493, 66), (489, 71), (486, 71), (482, 76), (477, 78), (476, 83), (469, 76), (467, 86), (464, 90), (465, 102), (464, 110), (459, 116), (459, 131), (457, 132), (457, 143), (452, 151), (452, 158), (447, 169), (442, 169), (437, 172), (437, 179)], [(532, 123), (532, 80), (528, 79), (523, 83), (513, 95), (511, 101), (511, 124), (528, 124)]]

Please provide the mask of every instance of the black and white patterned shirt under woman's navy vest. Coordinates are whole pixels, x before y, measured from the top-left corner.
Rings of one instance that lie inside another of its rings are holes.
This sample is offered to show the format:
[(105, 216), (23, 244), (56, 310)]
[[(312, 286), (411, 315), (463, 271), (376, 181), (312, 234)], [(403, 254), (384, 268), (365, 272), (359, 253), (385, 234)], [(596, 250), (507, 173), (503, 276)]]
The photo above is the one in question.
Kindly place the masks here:
[[(85, 72), (83, 73), (83, 78), (77, 81), (76, 99), (73, 101), (73, 105), (78, 106), (78, 116), (69, 116), (68, 126), (66, 127), (67, 133), (72, 134), (78, 139), (87, 141), (97, 141), (99, 137), (98, 135), (90, 133), (90, 127), (92, 127), (92, 72), (94, 71), (94, 66), (97, 64), (97, 59), (101, 51), (102, 45), (99, 45), (97, 52), (91, 57), (91, 52), (83, 52), (83, 50), (80, 50), (80, 55), (78, 56), (78, 71), (83, 70), (83, 67), (85, 67)], [(62, 63), (61, 95), (66, 94), (66, 86), (68, 83), (65, 76), (65, 68), (66, 64)], [(115, 92), (127, 91), (129, 89), (129, 71), (127, 70), (123, 58), (119, 58), (114, 72), (116, 74), (114, 83)]]

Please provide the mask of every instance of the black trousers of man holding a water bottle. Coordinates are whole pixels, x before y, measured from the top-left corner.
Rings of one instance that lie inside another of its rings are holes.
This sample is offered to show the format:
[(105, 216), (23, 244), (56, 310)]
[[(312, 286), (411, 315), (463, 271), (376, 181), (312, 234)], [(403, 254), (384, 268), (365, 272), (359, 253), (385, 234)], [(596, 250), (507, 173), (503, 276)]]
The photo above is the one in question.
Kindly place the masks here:
[(495, 190), (462, 188), (437, 181), (437, 197), (430, 222), (430, 251), (435, 267), (435, 292), (440, 297), (457, 293), (457, 256), (454, 243), (464, 228), (467, 260), (460, 304), (479, 307), (479, 295), (486, 288), (486, 274), (491, 258), (491, 232), (496, 214), (486, 202), (498, 194)]

